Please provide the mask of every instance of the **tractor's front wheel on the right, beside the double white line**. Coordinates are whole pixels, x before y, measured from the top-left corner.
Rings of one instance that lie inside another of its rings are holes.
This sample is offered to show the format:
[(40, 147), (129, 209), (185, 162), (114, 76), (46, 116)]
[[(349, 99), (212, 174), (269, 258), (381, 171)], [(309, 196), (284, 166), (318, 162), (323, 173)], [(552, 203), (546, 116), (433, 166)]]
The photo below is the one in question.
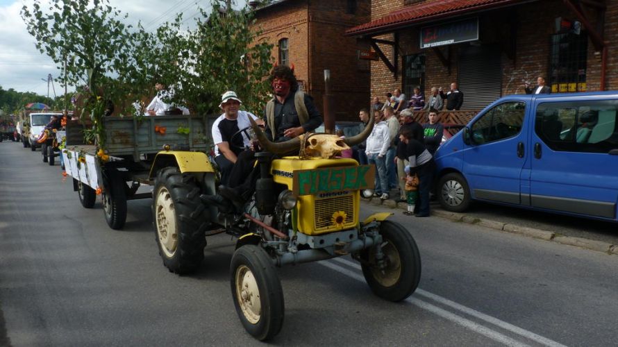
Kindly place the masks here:
[(376, 247), (361, 252), (362, 274), (377, 296), (387, 301), (402, 301), (417, 289), (421, 280), (421, 255), (412, 235), (401, 224), (383, 221), (381, 251), (385, 266), (376, 262)]

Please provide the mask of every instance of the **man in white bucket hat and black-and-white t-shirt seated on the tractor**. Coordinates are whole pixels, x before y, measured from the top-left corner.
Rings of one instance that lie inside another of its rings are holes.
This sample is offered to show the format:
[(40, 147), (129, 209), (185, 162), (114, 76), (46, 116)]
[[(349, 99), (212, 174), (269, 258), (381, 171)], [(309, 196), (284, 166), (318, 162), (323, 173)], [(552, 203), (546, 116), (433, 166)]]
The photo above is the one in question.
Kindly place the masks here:
[(238, 99), (235, 92), (229, 90), (222, 95), (219, 107), (224, 111), (215, 123), (212, 124), (212, 142), (215, 143), (215, 162), (221, 172), (222, 185), (228, 184), (230, 171), (236, 162), (237, 156), (243, 151), (242, 147), (251, 145), (251, 139), (247, 134), (242, 133), (234, 139), (232, 136), (240, 129), (251, 126), (249, 117), (253, 118), (257, 124), (264, 124), (264, 121), (253, 115), (251, 112), (240, 110), (242, 101)]

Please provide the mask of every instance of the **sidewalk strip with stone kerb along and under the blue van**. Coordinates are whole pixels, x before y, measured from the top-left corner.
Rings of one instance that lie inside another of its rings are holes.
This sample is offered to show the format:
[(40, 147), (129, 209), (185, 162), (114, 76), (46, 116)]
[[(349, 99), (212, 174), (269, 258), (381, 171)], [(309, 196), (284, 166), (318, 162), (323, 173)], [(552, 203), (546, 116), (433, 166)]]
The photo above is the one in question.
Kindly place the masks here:
[[(361, 198), (361, 201), (367, 205), (407, 210), (406, 203), (397, 203), (392, 199)], [(431, 216), (618, 255), (618, 228), (615, 223), (476, 202), (469, 212), (456, 213), (442, 210), (439, 203), (432, 201)]]

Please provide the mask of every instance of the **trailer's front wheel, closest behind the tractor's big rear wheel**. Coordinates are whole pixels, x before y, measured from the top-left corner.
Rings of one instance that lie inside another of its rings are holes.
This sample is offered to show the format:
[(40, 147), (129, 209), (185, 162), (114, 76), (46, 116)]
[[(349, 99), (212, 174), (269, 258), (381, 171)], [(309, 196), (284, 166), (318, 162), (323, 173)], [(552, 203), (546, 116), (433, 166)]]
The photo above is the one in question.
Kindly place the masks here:
[(105, 189), (101, 193), (103, 201), (103, 213), (108, 226), (114, 230), (120, 230), (126, 221), (126, 192), (124, 191), (124, 180), (122, 176), (110, 169), (105, 171), (103, 182)]

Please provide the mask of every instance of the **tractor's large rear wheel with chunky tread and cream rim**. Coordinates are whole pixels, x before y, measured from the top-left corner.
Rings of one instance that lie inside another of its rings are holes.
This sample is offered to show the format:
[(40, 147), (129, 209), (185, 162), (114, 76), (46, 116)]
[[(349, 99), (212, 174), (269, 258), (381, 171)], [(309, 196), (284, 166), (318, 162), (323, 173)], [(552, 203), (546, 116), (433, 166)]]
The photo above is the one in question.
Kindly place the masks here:
[(208, 213), (199, 195), (192, 174), (181, 174), (176, 167), (158, 172), (153, 190), (153, 227), (163, 265), (170, 272), (191, 273), (203, 260)]

